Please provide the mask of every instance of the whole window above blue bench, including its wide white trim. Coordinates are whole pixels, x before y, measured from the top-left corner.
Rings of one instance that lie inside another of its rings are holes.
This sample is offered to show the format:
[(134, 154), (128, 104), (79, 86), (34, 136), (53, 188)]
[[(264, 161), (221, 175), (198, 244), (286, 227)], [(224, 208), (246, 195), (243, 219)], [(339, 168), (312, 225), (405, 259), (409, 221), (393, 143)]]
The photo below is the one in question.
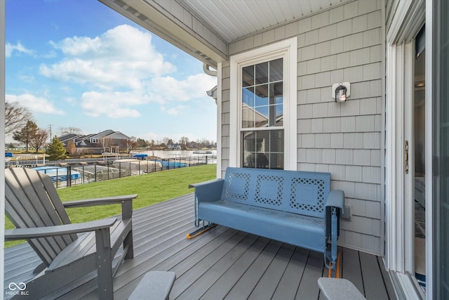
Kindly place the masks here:
[(229, 166), (297, 169), (297, 40), (230, 59)]

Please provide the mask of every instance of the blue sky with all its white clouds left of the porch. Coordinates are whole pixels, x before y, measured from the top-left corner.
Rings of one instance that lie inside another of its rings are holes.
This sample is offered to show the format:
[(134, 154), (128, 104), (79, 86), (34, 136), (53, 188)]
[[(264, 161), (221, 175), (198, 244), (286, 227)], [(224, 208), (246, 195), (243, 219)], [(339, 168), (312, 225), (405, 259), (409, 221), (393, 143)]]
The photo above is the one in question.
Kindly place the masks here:
[(199, 60), (99, 1), (6, 0), (6, 101), (53, 135), (77, 127), (216, 141), (206, 95), (216, 82)]

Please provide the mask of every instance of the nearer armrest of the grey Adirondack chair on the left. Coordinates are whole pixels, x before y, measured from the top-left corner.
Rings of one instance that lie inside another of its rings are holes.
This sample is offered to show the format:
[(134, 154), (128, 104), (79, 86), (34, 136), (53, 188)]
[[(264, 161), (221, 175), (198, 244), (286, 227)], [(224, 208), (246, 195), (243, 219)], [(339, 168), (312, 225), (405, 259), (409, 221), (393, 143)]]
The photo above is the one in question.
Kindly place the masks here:
[(37, 237), (86, 233), (109, 228), (113, 226), (116, 221), (116, 218), (108, 218), (85, 223), (72, 223), (58, 226), (9, 229), (5, 230), (5, 240), (25, 240)]

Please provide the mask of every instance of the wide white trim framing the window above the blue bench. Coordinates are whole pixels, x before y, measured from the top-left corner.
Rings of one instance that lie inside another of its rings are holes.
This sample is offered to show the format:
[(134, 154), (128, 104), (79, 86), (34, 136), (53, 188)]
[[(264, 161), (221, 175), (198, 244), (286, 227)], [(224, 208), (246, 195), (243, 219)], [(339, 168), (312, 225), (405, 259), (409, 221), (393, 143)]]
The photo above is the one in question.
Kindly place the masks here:
[[(236, 54), (230, 59), (230, 116), (229, 116), (229, 167), (240, 167), (241, 141), (239, 79), (242, 65), (283, 57), (283, 130), (284, 169), (297, 170), (297, 38)], [(273, 128), (276, 129), (276, 128)]]

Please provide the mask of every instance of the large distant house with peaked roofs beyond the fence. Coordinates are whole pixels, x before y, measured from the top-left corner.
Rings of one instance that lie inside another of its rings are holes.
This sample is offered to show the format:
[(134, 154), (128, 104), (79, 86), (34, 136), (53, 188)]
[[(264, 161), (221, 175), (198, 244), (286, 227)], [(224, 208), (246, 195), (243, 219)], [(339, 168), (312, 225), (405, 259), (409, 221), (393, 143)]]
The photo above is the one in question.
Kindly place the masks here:
[(88, 135), (68, 133), (64, 136), (58, 136), (64, 147), (72, 140), (75, 143), (77, 152), (90, 154), (101, 154), (102, 152), (119, 152), (126, 150), (126, 144), (130, 140), (129, 136), (120, 131), (105, 130), (100, 133)]

